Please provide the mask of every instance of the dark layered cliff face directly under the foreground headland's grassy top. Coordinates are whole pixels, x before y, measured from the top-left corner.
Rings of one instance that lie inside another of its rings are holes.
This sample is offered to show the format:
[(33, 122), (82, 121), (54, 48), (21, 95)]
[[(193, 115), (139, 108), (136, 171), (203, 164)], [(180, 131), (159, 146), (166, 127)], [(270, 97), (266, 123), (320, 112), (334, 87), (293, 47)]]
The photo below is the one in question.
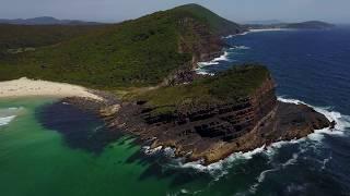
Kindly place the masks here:
[(268, 79), (253, 97), (242, 98), (240, 102), (195, 107), (191, 111), (177, 111), (171, 115), (152, 115), (151, 108), (140, 106), (136, 115), (150, 127), (183, 135), (179, 139), (186, 139), (186, 135), (192, 133), (230, 142), (252, 131), (276, 107), (276, 100), (273, 82)]

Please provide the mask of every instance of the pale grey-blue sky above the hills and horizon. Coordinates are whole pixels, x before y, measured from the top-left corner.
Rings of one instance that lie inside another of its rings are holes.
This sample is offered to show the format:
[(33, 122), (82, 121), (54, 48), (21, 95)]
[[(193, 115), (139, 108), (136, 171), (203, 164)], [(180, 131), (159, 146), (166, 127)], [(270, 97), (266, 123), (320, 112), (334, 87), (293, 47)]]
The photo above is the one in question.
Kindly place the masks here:
[(119, 22), (191, 2), (236, 22), (323, 20), (350, 23), (350, 0), (0, 0), (0, 17), (47, 15)]

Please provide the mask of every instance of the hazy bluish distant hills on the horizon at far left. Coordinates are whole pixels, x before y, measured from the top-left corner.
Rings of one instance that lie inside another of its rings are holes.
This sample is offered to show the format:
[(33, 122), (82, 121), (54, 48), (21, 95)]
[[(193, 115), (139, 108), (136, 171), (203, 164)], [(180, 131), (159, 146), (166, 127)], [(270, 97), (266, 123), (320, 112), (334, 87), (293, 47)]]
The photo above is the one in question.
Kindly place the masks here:
[(7, 20), (0, 19), (0, 24), (15, 24), (15, 25), (97, 25), (95, 22), (84, 22), (78, 20), (58, 20), (51, 16), (42, 16), (33, 19), (15, 19)]

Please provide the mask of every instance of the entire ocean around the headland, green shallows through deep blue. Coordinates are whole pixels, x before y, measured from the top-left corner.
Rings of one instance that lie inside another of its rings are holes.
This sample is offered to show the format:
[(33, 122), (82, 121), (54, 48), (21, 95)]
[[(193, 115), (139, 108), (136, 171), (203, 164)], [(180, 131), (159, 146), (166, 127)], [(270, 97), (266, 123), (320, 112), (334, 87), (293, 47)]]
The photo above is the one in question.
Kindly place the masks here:
[(170, 148), (149, 150), (130, 136), (108, 135), (98, 118), (54, 98), (1, 99), (1, 195), (350, 195), (350, 27), (225, 40), (231, 48), (200, 63), (198, 73), (265, 64), (281, 101), (314, 107), (336, 120), (335, 131), (203, 167), (183, 163)]

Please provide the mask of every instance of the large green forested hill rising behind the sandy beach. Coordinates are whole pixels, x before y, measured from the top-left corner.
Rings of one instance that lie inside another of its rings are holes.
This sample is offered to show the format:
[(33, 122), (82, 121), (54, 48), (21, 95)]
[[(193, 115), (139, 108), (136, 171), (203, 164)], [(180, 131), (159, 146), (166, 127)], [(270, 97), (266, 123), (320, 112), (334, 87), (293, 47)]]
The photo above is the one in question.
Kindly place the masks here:
[[(205, 42), (207, 35), (242, 30), (237, 24), (195, 4), (116, 25), (92, 26), (95, 29), (89, 28), (83, 35), (82, 29), (71, 29), (84, 28), (81, 26), (51, 28), (59, 29), (42, 36), (35, 28), (28, 30), (30, 35), (3, 38), (2, 42), (9, 42), (7, 48), (35, 47), (35, 51), (0, 54), (0, 81), (27, 76), (103, 89), (156, 85), (174, 71), (188, 69), (196, 45)], [(60, 36), (47, 36), (57, 33)], [(180, 44), (189, 50), (182, 51)]]

